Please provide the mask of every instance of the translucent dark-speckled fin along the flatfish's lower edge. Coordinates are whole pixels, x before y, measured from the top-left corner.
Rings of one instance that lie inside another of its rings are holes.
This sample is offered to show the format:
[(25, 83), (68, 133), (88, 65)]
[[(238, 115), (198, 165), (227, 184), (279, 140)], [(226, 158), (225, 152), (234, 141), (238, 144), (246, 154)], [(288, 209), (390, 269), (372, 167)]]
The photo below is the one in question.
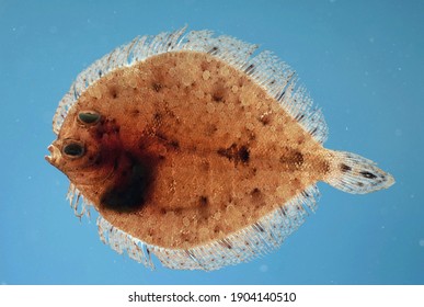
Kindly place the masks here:
[(222, 240), (188, 250), (147, 245), (114, 227), (102, 216), (98, 218), (99, 235), (101, 240), (116, 252), (126, 251), (131, 259), (148, 268), (154, 268), (150, 258), (150, 253), (153, 253), (170, 269), (217, 270), (225, 265), (247, 262), (278, 248), (305, 221), (308, 212), (314, 212), (318, 195), (317, 186), (309, 186), (253, 225)]

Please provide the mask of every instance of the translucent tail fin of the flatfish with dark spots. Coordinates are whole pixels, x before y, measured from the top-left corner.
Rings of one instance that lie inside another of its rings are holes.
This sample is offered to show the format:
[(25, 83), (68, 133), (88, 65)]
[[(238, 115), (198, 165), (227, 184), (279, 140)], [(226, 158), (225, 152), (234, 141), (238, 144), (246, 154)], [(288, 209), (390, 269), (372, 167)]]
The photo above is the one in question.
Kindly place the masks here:
[(353, 194), (366, 194), (387, 189), (394, 183), (391, 174), (376, 167), (371, 160), (345, 151), (332, 151), (332, 171), (326, 182)]

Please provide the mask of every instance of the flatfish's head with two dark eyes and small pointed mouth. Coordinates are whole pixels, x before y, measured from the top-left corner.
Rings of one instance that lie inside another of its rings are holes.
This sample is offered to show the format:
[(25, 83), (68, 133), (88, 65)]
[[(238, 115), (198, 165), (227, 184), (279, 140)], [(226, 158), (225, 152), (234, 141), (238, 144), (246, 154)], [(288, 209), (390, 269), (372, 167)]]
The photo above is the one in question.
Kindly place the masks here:
[(68, 114), (57, 139), (48, 146), (47, 162), (75, 184), (94, 184), (107, 179), (116, 163), (116, 127), (95, 111)]

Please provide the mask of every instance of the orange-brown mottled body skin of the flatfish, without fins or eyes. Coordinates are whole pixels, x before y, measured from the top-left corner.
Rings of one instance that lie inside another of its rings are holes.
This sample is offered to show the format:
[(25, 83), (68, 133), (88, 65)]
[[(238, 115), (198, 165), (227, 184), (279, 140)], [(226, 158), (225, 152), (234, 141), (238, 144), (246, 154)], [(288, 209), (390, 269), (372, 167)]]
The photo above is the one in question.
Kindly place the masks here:
[[(100, 114), (85, 124), (78, 115)], [(81, 157), (62, 154), (67, 144)], [(113, 71), (69, 111), (50, 148), (102, 216), (150, 245), (222, 239), (324, 180), (332, 156), (248, 75), (203, 53)]]

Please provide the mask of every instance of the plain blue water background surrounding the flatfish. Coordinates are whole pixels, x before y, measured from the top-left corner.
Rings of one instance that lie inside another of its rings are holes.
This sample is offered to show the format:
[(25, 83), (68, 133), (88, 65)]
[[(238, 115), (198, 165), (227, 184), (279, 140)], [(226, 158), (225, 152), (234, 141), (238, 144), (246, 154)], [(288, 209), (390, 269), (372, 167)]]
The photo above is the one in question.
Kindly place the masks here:
[[(0, 283), (424, 284), (423, 15), (423, 1), (0, 1)], [(104, 246), (44, 160), (51, 117), (93, 60), (185, 24), (275, 52), (323, 109), (325, 146), (397, 183), (368, 195), (319, 184), (317, 214), (280, 249), (219, 271), (150, 271)]]

